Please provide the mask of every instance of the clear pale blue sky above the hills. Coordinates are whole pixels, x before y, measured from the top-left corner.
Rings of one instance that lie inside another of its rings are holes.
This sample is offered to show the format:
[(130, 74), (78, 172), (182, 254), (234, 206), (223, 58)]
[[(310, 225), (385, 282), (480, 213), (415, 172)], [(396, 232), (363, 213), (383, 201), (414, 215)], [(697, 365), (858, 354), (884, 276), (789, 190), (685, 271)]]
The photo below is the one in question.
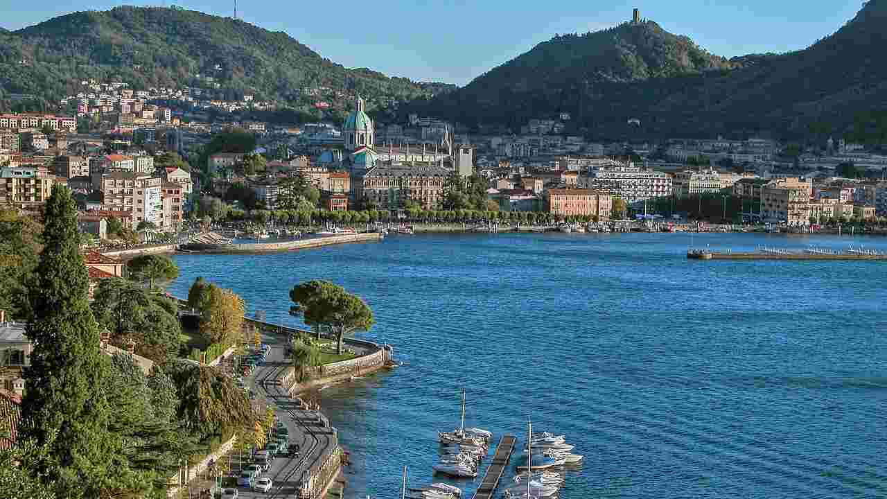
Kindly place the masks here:
[[(99, 0), (76, 7), (59, 0), (0, 0), (0, 26), (24, 28), (72, 9), (121, 4), (176, 4), (230, 16), (233, 0)], [(287, 32), (346, 67), (461, 85), (555, 33), (596, 31), (629, 20), (632, 7), (671, 33), (733, 57), (805, 48), (851, 20), (861, 5), (860, 0), (240, 0), (238, 13), (262, 28)]]

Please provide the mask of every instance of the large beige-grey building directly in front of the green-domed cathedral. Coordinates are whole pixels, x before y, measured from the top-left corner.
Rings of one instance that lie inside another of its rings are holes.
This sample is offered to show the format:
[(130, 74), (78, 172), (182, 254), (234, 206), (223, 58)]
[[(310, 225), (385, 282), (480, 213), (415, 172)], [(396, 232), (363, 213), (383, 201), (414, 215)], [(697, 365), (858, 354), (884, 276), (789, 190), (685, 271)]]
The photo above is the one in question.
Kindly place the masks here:
[(407, 200), (433, 210), (443, 202), (443, 184), (451, 173), (435, 164), (383, 163), (366, 172), (357, 197), (372, 200), (384, 210), (402, 208)]

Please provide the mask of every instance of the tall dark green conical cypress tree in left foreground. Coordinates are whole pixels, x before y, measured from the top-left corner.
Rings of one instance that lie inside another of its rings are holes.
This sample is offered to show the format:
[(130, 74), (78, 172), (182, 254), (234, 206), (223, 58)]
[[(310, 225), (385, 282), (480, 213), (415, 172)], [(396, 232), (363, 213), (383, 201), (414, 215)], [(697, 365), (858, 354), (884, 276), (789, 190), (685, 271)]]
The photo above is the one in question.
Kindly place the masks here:
[(34, 343), (22, 400), (23, 436), (51, 449), (43, 463), (48, 481), (66, 497), (96, 497), (106, 490), (117, 441), (108, 432), (103, 389), (106, 360), (88, 301), (89, 277), (79, 249), (71, 193), (54, 186), (46, 202), (43, 251), (28, 297)]

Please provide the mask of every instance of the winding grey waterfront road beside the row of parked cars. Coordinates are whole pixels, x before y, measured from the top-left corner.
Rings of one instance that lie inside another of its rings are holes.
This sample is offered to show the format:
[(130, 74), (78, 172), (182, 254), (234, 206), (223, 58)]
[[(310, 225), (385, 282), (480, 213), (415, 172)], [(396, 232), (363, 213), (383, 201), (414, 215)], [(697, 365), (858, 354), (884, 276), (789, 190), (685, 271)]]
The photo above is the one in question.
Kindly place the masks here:
[[(299, 400), (291, 400), (284, 387), (274, 384), (290, 365), (284, 354), (286, 338), (265, 333), (263, 343), (271, 346), (271, 352), (250, 376), (249, 385), (255, 391), (255, 400), (274, 408), (279, 421), (287, 425), (290, 448), (298, 446), (298, 454), (279, 455), (271, 464), (271, 469), (262, 474), (263, 478), (273, 481), (270, 491), (253, 492), (248, 487), (238, 487), (239, 496), (246, 499), (295, 497), (302, 486), (303, 472), (318, 466), (324, 456), (333, 450), (335, 440), (329, 430), (319, 423), (324, 419), (318, 411), (302, 410)], [(232, 470), (237, 471), (236, 467)]]

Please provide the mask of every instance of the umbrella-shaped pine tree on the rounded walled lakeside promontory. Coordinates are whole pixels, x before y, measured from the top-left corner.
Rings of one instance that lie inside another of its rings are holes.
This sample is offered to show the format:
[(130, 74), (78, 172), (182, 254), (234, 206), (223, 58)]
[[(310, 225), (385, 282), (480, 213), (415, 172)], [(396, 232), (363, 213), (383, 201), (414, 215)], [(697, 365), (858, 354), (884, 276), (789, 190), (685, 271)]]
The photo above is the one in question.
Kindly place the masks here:
[(302, 315), (305, 323), (333, 329), (336, 352), (341, 354), (342, 339), (355, 331), (373, 327), (375, 318), (366, 302), (329, 281), (308, 281), (289, 292), (294, 305), (290, 313)]

